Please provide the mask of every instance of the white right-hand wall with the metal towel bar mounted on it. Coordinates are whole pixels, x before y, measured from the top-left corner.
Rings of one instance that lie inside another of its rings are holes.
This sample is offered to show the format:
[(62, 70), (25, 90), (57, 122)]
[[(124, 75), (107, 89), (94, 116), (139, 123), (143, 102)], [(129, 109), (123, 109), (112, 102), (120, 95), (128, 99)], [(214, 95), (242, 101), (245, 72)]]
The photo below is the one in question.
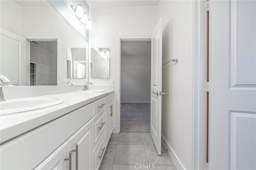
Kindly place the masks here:
[[(162, 135), (176, 155), (176, 165), (192, 169), (192, 40), (193, 2), (160, 1), (163, 18)], [(175, 162), (174, 162), (175, 163)], [(179, 167), (177, 167), (179, 168)]]

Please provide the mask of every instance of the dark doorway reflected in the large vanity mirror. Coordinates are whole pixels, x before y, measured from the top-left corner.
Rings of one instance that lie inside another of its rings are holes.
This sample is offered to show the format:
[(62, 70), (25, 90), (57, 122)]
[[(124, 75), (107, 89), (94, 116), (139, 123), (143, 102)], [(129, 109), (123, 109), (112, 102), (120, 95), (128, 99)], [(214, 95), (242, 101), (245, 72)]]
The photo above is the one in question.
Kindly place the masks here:
[(30, 42), (30, 85), (57, 85), (57, 41)]

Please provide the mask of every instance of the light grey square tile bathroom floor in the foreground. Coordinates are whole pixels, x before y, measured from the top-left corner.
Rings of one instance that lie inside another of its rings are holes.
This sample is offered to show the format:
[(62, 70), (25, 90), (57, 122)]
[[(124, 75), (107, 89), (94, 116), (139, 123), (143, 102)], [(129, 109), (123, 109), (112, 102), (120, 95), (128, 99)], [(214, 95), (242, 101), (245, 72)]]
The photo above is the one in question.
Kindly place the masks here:
[(139, 169), (139, 165), (134, 167), (135, 164), (150, 165), (148, 168), (141, 168), (144, 170), (176, 170), (166, 151), (162, 151), (161, 156), (157, 154), (150, 133), (112, 133), (100, 170)]

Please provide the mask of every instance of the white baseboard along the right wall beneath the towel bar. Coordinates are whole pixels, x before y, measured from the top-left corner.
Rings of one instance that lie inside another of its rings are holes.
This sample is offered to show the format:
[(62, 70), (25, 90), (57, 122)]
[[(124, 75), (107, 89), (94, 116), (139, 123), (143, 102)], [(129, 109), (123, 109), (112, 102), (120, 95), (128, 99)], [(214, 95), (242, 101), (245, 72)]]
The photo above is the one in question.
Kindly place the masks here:
[(172, 159), (172, 162), (176, 166), (177, 170), (185, 170), (184, 166), (180, 162), (179, 158), (176, 156), (176, 154), (173, 152), (171, 146), (168, 144), (164, 136), (162, 135), (162, 144), (164, 145), (164, 148), (168, 149), (167, 153)]

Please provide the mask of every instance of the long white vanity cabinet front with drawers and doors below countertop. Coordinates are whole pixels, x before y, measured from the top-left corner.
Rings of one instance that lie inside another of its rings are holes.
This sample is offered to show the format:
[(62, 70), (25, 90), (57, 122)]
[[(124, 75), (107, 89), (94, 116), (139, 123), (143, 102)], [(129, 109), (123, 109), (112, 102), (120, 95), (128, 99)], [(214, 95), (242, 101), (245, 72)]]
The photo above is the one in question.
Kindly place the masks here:
[(112, 103), (110, 94), (1, 144), (0, 169), (98, 170), (113, 130)]

